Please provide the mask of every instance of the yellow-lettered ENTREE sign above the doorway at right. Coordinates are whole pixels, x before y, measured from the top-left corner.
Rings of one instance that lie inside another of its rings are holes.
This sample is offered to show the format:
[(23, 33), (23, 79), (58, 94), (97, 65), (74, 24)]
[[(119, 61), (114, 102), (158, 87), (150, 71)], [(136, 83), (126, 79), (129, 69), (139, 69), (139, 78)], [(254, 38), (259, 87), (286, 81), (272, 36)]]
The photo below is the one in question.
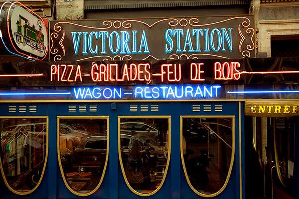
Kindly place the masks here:
[(299, 115), (299, 102), (245, 102), (245, 115), (256, 117), (292, 117)]

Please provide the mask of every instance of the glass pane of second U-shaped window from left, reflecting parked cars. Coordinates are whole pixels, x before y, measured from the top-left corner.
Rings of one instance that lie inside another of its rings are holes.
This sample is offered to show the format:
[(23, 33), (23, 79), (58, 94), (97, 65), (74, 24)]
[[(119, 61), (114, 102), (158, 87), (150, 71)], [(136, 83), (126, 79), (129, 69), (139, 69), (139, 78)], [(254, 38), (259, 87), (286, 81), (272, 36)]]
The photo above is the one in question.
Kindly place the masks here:
[(100, 186), (106, 167), (107, 119), (59, 119), (62, 175), (77, 195), (89, 195)]

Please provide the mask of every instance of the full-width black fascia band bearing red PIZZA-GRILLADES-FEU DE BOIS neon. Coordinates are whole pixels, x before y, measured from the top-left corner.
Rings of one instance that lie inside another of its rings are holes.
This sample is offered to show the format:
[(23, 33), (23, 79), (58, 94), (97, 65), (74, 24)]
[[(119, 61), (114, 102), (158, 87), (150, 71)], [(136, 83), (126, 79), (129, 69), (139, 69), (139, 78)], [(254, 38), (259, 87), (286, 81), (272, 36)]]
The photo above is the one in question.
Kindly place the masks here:
[(298, 64), (292, 58), (0, 63), (0, 87), (276, 84), (294, 88)]

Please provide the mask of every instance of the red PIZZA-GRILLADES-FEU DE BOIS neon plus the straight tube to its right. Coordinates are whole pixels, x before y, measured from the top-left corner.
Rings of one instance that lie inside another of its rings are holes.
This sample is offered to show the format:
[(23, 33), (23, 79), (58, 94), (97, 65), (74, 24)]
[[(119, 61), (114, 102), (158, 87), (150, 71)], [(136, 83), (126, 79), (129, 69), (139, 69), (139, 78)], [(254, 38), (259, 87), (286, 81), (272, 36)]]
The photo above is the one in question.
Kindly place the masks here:
[[(186, 70), (187, 69), (187, 70)], [(182, 80), (188, 83), (204, 83), (206, 79), (214, 81), (237, 81), (242, 76), (257, 74), (296, 74), (299, 71), (254, 71), (242, 70), (240, 62), (216, 61), (212, 65), (204, 62), (189, 61), (161, 63), (154, 67), (149, 62), (129, 63), (91, 63), (89, 66), (53, 64), (51, 65), (50, 81), (56, 82), (94, 82), (94, 83), (142, 83), (163, 84), (179, 83)], [(186, 74), (186, 72), (189, 72)], [(212, 73), (211, 73), (212, 72)]]

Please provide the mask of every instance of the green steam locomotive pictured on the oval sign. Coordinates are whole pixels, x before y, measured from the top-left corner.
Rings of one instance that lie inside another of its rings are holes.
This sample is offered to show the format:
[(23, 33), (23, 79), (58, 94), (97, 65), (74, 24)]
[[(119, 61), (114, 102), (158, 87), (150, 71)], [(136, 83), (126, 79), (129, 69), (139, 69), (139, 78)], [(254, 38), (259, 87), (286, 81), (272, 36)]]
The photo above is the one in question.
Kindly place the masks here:
[(14, 35), (17, 44), (28, 45), (32, 50), (38, 50), (42, 53), (46, 50), (44, 46), (44, 34), (42, 33), (41, 21), (38, 20), (37, 24), (39, 30), (36, 30), (34, 25), (31, 27), (28, 19), (19, 15), (19, 20), (16, 22), (17, 32)]

